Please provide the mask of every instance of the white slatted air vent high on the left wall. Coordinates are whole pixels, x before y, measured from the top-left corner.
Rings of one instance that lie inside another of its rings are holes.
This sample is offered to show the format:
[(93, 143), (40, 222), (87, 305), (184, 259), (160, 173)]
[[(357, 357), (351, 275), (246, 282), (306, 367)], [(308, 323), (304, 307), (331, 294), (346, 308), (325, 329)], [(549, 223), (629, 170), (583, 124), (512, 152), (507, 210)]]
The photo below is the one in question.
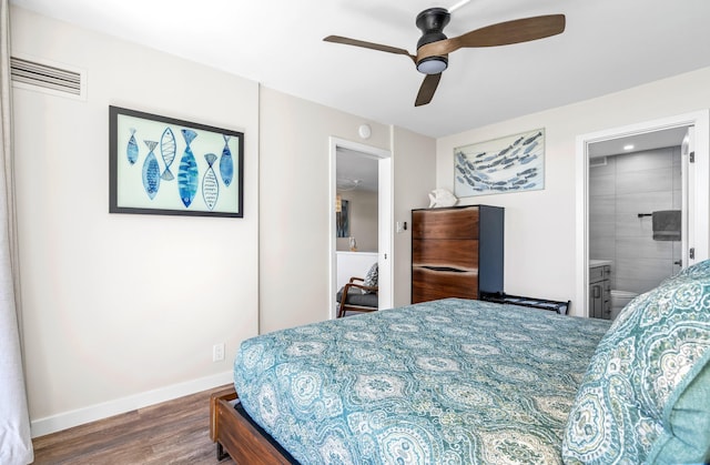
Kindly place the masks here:
[(10, 72), (16, 87), (40, 92), (84, 99), (85, 73), (65, 67), (10, 57)]

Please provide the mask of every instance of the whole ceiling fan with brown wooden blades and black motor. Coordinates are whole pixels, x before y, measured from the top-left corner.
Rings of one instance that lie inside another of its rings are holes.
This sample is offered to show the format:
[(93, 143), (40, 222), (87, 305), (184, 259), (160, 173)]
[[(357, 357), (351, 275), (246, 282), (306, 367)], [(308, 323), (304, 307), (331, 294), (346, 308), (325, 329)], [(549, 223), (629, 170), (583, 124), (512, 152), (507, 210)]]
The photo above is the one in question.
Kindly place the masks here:
[(416, 26), (422, 30), (417, 41), (417, 53), (412, 54), (405, 49), (383, 46), (363, 40), (349, 39), (342, 36), (328, 36), (326, 42), (344, 43), (383, 52), (403, 54), (414, 61), (419, 72), (426, 74), (414, 105), (429, 103), (442, 79), (442, 72), (448, 68), (448, 54), (463, 48), (495, 47), (511, 43), (528, 42), (556, 36), (565, 31), (564, 14), (547, 14), (499, 22), (476, 29), (465, 34), (448, 39), (444, 28), (450, 20), (450, 12), (468, 1), (462, 1), (450, 11), (446, 8), (428, 8), (417, 14)]

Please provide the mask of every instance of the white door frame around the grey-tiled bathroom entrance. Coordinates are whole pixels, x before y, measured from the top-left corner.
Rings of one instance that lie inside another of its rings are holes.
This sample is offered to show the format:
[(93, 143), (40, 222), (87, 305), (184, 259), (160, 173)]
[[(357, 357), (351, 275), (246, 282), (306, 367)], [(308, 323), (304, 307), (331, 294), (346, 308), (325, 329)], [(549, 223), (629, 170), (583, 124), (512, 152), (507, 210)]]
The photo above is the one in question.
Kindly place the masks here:
[[(689, 236), (694, 247), (694, 262), (710, 256), (710, 110), (679, 114), (625, 127), (609, 128), (601, 131), (581, 134), (576, 141), (576, 276), (575, 299), (582, 305), (584, 312), (577, 315), (589, 316), (589, 145), (611, 139), (656, 132), (680, 127), (694, 127), (694, 172), (691, 185), (694, 185), (694, 205), (692, 208), (693, 230)], [(686, 253), (687, 251), (683, 251)]]

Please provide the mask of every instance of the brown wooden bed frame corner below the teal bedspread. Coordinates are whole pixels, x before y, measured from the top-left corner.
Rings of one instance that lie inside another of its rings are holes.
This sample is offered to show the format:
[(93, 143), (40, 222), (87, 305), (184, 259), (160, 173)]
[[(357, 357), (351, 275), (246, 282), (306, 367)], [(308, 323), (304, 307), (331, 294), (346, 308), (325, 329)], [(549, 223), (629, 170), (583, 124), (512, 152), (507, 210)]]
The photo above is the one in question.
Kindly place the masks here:
[(229, 456), (237, 464), (292, 464), (231, 401), (239, 398), (234, 387), (210, 396), (210, 437), (217, 444), (217, 461)]

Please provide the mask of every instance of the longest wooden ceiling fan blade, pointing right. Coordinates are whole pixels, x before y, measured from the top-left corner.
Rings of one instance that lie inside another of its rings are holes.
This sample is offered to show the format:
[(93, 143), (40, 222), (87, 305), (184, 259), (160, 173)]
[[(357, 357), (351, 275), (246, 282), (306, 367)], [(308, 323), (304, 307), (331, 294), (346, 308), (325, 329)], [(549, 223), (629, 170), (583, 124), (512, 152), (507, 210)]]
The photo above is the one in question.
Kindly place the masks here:
[(417, 59), (444, 55), (468, 47), (496, 47), (528, 42), (556, 36), (565, 31), (565, 14), (523, 18), (476, 29), (453, 39), (422, 46)]

